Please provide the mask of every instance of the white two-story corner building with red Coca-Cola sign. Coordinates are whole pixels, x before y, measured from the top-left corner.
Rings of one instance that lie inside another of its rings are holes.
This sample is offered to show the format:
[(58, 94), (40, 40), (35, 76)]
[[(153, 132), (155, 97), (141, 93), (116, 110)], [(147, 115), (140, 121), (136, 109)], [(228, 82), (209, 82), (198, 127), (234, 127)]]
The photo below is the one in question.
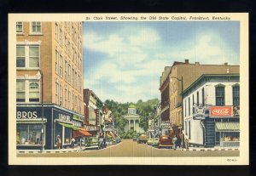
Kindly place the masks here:
[(239, 146), (239, 80), (238, 74), (204, 74), (183, 91), (190, 145)]

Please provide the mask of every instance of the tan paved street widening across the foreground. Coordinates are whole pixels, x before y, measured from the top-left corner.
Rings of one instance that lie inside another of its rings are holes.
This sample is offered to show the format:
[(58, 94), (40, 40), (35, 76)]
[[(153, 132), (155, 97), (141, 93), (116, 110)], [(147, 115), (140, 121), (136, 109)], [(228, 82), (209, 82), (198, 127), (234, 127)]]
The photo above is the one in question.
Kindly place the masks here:
[(72, 153), (43, 153), (17, 154), (17, 156), (32, 157), (173, 157), (173, 156), (239, 156), (239, 150), (172, 150), (156, 149), (154, 147), (137, 144), (131, 139), (124, 139), (118, 145), (111, 145), (102, 150), (85, 150)]

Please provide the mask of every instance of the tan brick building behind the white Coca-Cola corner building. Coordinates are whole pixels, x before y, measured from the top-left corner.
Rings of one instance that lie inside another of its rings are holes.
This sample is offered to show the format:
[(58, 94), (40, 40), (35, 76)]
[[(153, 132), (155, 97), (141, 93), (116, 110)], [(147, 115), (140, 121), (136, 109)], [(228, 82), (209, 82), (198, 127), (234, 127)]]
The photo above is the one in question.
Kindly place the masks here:
[(190, 64), (175, 61), (172, 67), (166, 67), (160, 77), (160, 92), (162, 105), (162, 119), (169, 119), (171, 123), (170, 133), (182, 138), (183, 131), (183, 103), (182, 91), (188, 88), (192, 82), (202, 74), (239, 74), (239, 65), (201, 65), (199, 62)]

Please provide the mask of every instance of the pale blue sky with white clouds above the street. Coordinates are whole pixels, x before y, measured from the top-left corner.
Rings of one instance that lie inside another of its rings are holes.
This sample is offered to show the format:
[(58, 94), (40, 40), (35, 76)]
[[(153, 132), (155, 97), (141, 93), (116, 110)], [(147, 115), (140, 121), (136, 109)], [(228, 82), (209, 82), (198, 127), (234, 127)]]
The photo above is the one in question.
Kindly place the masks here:
[(84, 88), (102, 101), (160, 99), (174, 61), (239, 65), (239, 21), (84, 22)]

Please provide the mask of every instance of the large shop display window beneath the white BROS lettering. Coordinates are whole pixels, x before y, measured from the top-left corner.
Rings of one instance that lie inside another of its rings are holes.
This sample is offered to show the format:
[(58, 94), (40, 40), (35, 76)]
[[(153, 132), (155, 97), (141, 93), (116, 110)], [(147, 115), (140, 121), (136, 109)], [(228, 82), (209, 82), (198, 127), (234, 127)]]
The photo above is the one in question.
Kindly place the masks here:
[(42, 145), (42, 125), (18, 124), (16, 131), (17, 145)]

